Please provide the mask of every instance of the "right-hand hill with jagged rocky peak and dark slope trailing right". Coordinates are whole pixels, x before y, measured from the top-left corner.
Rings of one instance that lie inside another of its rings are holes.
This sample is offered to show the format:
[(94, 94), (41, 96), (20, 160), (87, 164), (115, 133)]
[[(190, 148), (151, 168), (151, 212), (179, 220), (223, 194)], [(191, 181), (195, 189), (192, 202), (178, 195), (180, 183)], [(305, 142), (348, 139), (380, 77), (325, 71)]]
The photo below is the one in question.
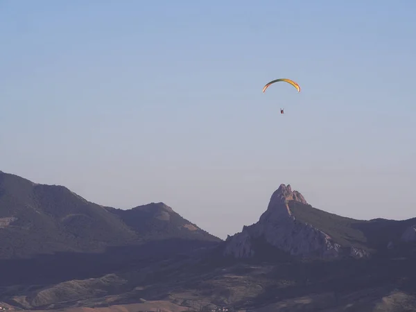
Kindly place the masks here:
[(291, 186), (281, 184), (259, 221), (224, 243), (226, 256), (363, 258), (409, 252), (416, 243), (416, 218), (355, 220), (316, 209)]

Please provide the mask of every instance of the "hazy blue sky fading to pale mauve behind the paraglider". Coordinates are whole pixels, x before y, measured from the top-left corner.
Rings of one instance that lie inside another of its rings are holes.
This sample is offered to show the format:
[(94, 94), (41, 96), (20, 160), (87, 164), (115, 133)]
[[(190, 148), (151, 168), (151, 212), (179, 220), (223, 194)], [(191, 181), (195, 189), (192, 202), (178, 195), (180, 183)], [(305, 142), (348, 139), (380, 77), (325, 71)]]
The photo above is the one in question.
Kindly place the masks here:
[[(225, 238), (279, 184), (416, 216), (416, 1), (0, 1), (0, 170)], [(302, 92), (286, 83), (291, 78)], [(279, 108), (285, 114), (279, 114)]]

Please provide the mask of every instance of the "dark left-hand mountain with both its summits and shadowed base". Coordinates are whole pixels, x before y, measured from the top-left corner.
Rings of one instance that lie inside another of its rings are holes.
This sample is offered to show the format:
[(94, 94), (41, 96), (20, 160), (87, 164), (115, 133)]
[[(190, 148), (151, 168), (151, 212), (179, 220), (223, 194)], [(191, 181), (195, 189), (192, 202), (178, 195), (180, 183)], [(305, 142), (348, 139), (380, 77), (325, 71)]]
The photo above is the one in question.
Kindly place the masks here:
[(15, 280), (13, 271), (22, 282), (81, 278), (219, 241), (162, 202), (103, 207), (66, 187), (0, 171), (0, 284)]

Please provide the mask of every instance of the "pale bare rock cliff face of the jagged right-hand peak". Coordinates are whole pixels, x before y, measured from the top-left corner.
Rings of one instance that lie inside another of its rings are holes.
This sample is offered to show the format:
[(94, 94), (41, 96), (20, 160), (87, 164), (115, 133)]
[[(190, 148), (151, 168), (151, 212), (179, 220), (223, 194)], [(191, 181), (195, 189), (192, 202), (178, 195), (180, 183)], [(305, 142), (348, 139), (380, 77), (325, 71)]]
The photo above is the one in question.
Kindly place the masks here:
[(235, 258), (253, 257), (254, 240), (263, 237), (270, 245), (293, 256), (334, 258), (345, 252), (356, 258), (367, 255), (360, 248), (343, 248), (320, 229), (297, 221), (288, 205), (291, 201), (308, 205), (301, 193), (292, 191), (291, 185), (281, 184), (257, 223), (227, 237), (223, 254)]

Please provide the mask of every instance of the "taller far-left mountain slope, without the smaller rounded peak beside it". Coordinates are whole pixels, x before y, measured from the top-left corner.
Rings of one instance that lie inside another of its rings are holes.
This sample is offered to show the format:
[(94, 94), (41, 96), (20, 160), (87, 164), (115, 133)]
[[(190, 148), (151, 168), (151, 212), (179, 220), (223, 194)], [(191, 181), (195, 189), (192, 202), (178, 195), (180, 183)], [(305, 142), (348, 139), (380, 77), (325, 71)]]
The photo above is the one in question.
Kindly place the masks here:
[(135, 232), (104, 207), (57, 185), (0, 173), (0, 258), (103, 250)]

